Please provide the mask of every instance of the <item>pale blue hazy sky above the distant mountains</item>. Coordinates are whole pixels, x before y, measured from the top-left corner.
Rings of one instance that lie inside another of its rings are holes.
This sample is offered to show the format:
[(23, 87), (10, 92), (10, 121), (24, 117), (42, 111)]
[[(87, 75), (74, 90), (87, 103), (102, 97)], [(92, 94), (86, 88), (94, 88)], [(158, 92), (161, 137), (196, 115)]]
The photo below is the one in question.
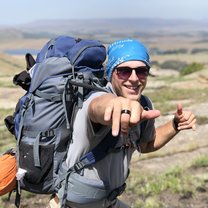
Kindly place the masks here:
[(1, 0), (0, 25), (48, 19), (208, 20), (208, 0)]

